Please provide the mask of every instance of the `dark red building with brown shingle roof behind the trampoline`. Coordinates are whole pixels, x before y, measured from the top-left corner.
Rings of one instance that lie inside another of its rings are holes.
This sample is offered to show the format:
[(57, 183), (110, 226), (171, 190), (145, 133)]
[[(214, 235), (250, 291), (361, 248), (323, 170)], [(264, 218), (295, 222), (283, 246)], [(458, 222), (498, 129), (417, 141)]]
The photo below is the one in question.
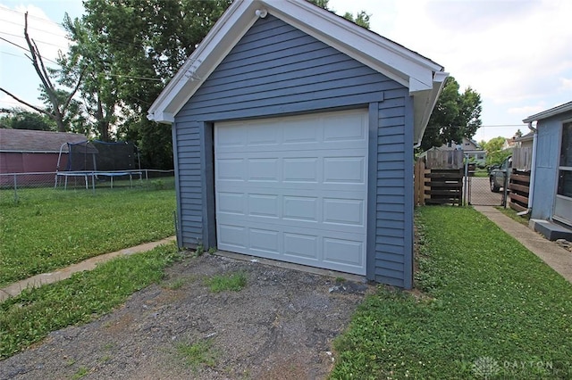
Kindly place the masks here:
[[(49, 132), (29, 129), (0, 128), (0, 174), (55, 172), (60, 148), (65, 143), (86, 141), (86, 136), (76, 133)], [(67, 145), (63, 147), (63, 162), (67, 163)], [(46, 176), (44, 176), (46, 177)], [(50, 181), (54, 176), (48, 176)], [(3, 183), (7, 182), (2, 176)], [(28, 181), (40, 177), (28, 176)], [(23, 177), (20, 178), (23, 180)], [(10, 183), (12, 183), (10, 178)]]

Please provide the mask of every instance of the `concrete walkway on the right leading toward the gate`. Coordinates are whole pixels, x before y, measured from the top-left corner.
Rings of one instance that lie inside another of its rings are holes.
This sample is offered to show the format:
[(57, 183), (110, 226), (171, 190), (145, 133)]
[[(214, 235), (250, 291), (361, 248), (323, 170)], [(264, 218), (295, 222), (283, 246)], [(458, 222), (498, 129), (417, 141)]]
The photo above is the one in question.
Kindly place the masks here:
[(546, 240), (542, 235), (518, 223), (516, 220), (510, 219), (492, 206), (473, 207), (501, 227), (504, 232), (517, 239), (520, 244), (523, 244), (529, 251), (541, 258), (552, 269), (556, 270), (560, 276), (566, 278), (569, 283), (572, 283), (572, 252), (565, 250), (550, 240)]

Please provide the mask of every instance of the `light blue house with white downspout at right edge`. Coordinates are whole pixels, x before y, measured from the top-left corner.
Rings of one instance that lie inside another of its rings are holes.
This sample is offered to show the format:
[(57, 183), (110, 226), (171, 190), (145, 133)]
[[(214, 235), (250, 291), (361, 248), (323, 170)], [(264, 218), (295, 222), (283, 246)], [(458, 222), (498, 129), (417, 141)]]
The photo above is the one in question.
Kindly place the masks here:
[(572, 102), (523, 121), (536, 122), (531, 225), (551, 240), (569, 238), (564, 227), (572, 227)]

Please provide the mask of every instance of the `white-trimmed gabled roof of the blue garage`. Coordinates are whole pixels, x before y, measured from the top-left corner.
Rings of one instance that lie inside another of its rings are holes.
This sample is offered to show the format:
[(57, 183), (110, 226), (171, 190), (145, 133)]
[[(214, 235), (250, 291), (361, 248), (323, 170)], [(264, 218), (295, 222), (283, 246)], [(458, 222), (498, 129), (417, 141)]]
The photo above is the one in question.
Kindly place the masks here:
[(448, 73), (423, 55), (305, 0), (235, 0), (151, 105), (147, 118), (172, 123), (240, 38), (268, 13), (408, 87), (414, 100), (414, 141), (421, 142)]

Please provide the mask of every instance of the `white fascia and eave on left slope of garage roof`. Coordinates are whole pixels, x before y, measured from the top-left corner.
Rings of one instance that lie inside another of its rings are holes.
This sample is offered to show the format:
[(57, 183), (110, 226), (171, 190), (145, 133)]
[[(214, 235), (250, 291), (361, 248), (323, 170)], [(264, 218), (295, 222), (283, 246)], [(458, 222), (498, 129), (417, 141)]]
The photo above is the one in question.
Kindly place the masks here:
[[(147, 119), (158, 122), (172, 122), (163, 119), (165, 115), (175, 115), (181, 110), (208, 76), (216, 69), (224, 57), (240, 41), (240, 38), (257, 21), (255, 14), (257, 1), (236, 0), (214, 24), (206, 37), (181, 69), (149, 107)], [(243, 15), (248, 17), (242, 17)], [(248, 14), (250, 13), (250, 14)]]

